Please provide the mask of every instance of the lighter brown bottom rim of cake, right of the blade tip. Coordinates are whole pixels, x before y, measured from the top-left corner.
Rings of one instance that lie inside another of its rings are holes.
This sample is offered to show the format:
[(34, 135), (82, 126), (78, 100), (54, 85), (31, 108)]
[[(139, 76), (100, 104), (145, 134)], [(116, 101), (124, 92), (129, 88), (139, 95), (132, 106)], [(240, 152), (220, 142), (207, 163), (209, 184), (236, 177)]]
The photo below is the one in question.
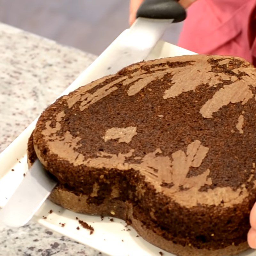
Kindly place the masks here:
[(49, 199), (53, 203), (73, 212), (111, 216), (125, 220), (150, 244), (154, 244), (155, 246), (167, 252), (176, 254), (177, 256), (232, 256), (249, 248), (247, 242), (242, 242), (238, 245), (229, 245), (225, 248), (216, 250), (198, 249), (193, 246), (175, 244), (159, 235), (156, 230), (147, 228), (139, 219), (135, 218), (133, 214), (134, 207), (131, 203), (110, 198), (105, 200), (102, 204), (96, 205), (88, 204), (86, 201), (87, 198), (88, 196), (86, 195), (76, 195), (72, 191), (62, 188), (61, 186), (57, 186), (49, 196)]

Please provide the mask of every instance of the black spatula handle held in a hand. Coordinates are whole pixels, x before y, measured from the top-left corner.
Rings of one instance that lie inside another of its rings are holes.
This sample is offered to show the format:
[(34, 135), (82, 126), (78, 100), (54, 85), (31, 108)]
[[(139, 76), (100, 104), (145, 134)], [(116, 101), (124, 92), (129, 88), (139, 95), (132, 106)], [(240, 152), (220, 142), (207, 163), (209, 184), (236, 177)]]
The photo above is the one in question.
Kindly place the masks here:
[(137, 11), (138, 17), (180, 22), (186, 19), (186, 10), (175, 0), (144, 0)]

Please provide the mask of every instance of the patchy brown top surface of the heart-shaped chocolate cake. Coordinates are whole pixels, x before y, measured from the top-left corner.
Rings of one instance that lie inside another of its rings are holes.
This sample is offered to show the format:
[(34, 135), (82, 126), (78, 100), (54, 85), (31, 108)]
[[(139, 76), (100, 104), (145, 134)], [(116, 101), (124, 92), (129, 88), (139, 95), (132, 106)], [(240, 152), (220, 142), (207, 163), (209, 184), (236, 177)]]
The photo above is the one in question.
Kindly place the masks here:
[(239, 204), (256, 187), (255, 81), (251, 64), (227, 56), (131, 65), (48, 107), (37, 156), (58, 177), (134, 170), (186, 207)]

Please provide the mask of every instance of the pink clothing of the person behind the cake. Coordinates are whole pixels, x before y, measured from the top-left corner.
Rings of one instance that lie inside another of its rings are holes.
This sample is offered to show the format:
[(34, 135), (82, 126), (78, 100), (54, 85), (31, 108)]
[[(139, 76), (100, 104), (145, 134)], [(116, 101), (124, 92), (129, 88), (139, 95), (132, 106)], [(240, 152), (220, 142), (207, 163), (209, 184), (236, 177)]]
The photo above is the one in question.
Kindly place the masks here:
[(178, 45), (201, 54), (232, 55), (253, 62), (255, 10), (256, 0), (198, 0), (188, 9)]

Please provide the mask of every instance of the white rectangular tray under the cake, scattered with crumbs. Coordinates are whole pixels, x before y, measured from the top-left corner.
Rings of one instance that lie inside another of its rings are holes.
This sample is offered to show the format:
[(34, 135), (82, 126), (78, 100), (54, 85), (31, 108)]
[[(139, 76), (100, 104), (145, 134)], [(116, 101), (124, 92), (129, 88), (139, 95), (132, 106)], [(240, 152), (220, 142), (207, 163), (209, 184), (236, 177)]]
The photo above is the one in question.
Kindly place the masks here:
[[(123, 33), (127, 33), (127, 31), (125, 30)], [(100, 73), (105, 72), (105, 70), (101, 70), (101, 63), (107, 61), (109, 56), (115, 53), (115, 47), (116, 43), (114, 41), (91, 66), (77, 77), (62, 95), (100, 77)], [(195, 53), (159, 41), (147, 60), (191, 54)], [(0, 154), (0, 207), (6, 204), (7, 199), (23, 179), (23, 173), (28, 171), (27, 141), (35, 124), (36, 120)], [(15, 171), (12, 171), (12, 169)], [(51, 214), (49, 213), (50, 210), (53, 211)], [(91, 225), (95, 230), (94, 233), (90, 235), (88, 230), (80, 227), (76, 217)], [(49, 229), (109, 255), (149, 256), (160, 255), (159, 252), (163, 252), (164, 256), (173, 256), (173, 254), (149, 244), (141, 237), (137, 237), (136, 231), (132, 227), (125, 227), (126, 223), (123, 220), (114, 218), (114, 222), (112, 222), (108, 217), (101, 220), (99, 216), (78, 214), (57, 206), (49, 200), (43, 204), (33, 219)], [(61, 224), (64, 223), (65, 225), (62, 227)], [(79, 230), (76, 229), (78, 226), (80, 227)], [(241, 256), (245, 255), (252, 256), (255, 255), (255, 252), (249, 250), (241, 254)]]

